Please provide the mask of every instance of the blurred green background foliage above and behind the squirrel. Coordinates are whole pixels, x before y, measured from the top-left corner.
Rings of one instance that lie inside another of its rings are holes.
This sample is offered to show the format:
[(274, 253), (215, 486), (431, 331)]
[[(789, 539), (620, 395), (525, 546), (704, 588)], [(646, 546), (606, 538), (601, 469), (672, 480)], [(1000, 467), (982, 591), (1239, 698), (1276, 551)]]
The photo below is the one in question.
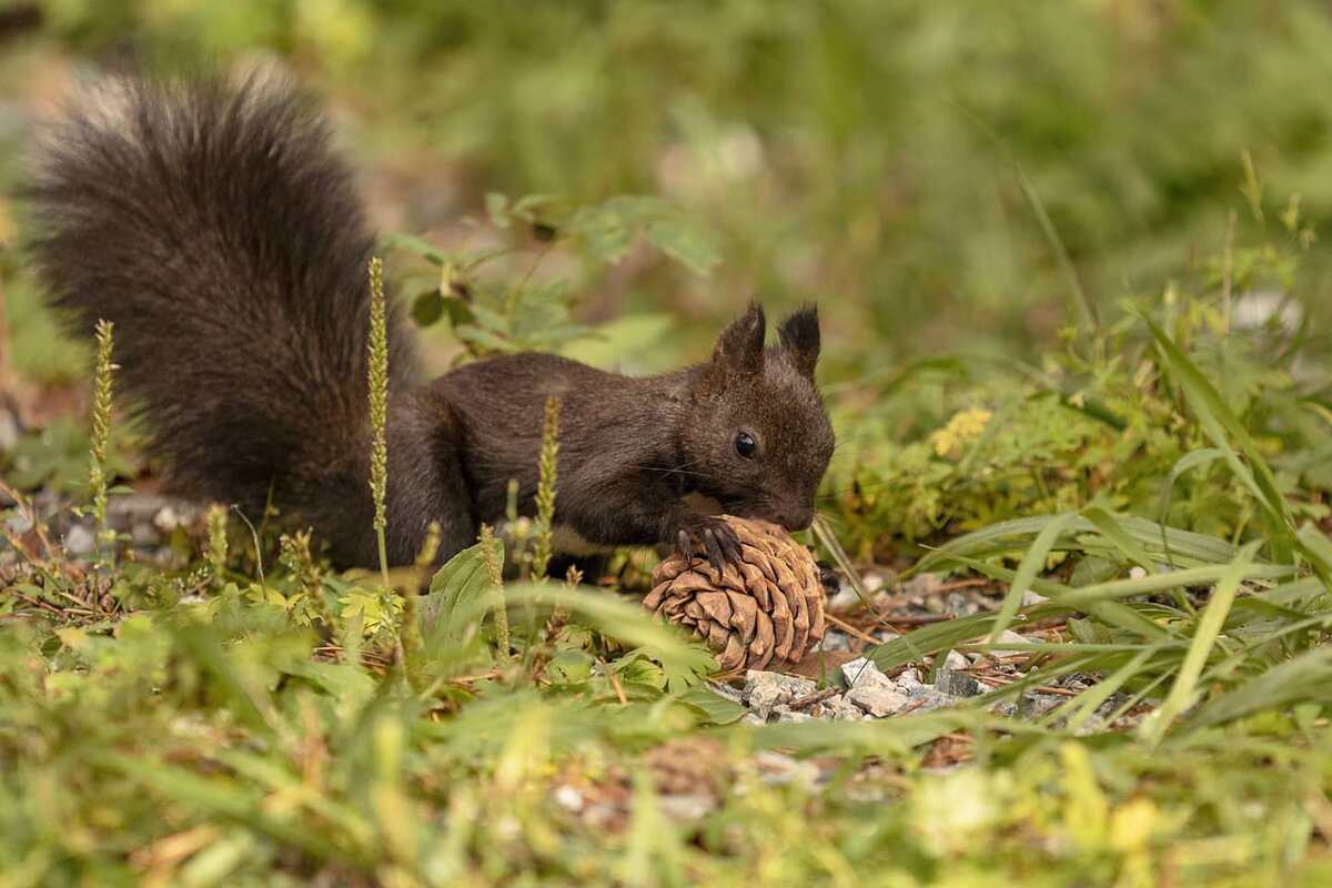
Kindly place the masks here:
[[(750, 298), (817, 300), (832, 378), (1055, 343), (1071, 310), (1056, 240), (1104, 313), (1160, 293), (1196, 270), (1192, 257), (1221, 252), (1228, 212), (1245, 205), (1244, 152), (1268, 213), (1240, 214), (1241, 242), (1292, 196), (1315, 230), (1332, 216), (1332, 11), (1312, 0), (0, 11), (7, 190), (29, 116), (77, 64), (127, 49), (277, 55), (334, 109), (382, 229), (448, 230), (492, 190), (661, 194), (710, 229), (722, 264), (701, 280), (630, 256), (579, 280), (585, 317), (663, 312), (701, 339)], [(21, 212), (0, 209), (12, 241)], [(1315, 245), (1301, 264), (1301, 298), (1325, 294), (1327, 258)], [(23, 306), (11, 313), (25, 322)], [(639, 361), (678, 359), (679, 342), (663, 342)]]

